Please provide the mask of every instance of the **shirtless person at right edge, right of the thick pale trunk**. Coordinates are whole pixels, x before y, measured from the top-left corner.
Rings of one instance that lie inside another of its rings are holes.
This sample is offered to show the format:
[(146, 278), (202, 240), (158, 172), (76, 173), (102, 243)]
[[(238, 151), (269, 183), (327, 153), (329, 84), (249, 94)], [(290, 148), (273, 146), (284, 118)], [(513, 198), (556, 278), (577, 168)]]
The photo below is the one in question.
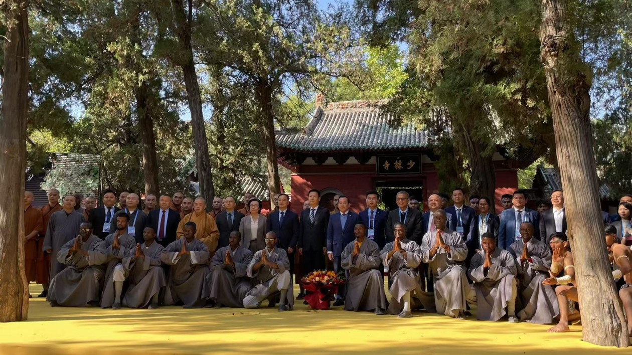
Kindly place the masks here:
[(605, 226), (605, 245), (608, 247), (612, 267), (616, 266), (612, 277), (615, 282), (621, 277), (625, 281), (619, 289), (619, 297), (623, 301), (623, 308), (628, 316), (628, 335), (632, 337), (632, 267), (630, 266), (632, 250), (624, 244), (617, 243), (617, 229), (611, 224)]

